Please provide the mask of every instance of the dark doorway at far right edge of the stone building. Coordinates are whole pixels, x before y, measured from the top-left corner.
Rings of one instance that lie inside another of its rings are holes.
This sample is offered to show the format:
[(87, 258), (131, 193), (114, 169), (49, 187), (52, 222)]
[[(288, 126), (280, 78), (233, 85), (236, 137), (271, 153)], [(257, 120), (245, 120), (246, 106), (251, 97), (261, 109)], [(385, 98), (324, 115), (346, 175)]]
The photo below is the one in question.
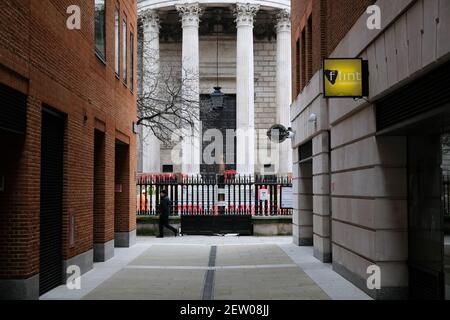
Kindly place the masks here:
[(440, 134), (408, 137), (409, 284), (412, 299), (444, 298)]

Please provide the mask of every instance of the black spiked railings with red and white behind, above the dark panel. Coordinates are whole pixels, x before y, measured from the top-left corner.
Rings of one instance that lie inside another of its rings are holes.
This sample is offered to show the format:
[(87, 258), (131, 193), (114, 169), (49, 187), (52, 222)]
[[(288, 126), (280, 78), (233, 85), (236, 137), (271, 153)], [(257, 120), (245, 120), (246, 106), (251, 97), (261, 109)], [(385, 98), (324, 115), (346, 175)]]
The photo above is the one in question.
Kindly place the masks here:
[[(215, 175), (146, 175), (137, 179), (137, 214), (158, 215), (159, 194), (166, 190), (171, 199), (171, 215), (280, 216), (292, 215), (292, 208), (282, 208), (282, 189), (291, 197), (289, 177), (227, 176), (219, 181)], [(285, 189), (286, 191), (286, 189)], [(225, 194), (219, 203), (218, 193)], [(288, 200), (288, 199), (284, 199)]]

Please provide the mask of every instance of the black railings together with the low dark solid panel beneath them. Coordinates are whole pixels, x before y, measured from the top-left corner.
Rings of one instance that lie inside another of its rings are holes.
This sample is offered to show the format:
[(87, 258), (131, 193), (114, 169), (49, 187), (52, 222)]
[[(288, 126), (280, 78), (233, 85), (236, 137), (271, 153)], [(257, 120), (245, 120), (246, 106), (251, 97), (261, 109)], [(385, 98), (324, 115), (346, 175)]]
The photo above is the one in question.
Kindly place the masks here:
[(137, 181), (138, 215), (159, 215), (159, 194), (167, 190), (171, 215), (180, 216), (191, 234), (252, 234), (254, 216), (292, 215), (289, 177), (142, 174)]

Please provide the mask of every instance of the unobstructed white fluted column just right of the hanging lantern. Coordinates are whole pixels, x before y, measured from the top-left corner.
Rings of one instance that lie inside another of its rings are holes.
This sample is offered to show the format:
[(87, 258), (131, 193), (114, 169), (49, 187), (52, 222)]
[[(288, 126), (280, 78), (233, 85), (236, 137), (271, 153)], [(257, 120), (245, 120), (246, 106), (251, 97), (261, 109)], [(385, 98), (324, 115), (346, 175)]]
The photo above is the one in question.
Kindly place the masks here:
[(237, 172), (255, 171), (255, 80), (253, 18), (259, 5), (237, 3), (236, 139)]

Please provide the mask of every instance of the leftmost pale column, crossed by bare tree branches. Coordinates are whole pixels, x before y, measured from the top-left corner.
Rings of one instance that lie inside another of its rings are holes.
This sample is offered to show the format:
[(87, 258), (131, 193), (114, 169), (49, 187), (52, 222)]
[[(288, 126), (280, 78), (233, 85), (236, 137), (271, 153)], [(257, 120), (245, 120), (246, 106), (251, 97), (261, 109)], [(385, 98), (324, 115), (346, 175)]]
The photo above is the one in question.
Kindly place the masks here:
[[(140, 15), (143, 23), (142, 47), (142, 91), (143, 94), (157, 94), (159, 74), (159, 16), (155, 10), (146, 10)], [(141, 126), (142, 171), (158, 173), (161, 171), (160, 141), (149, 127)]]

